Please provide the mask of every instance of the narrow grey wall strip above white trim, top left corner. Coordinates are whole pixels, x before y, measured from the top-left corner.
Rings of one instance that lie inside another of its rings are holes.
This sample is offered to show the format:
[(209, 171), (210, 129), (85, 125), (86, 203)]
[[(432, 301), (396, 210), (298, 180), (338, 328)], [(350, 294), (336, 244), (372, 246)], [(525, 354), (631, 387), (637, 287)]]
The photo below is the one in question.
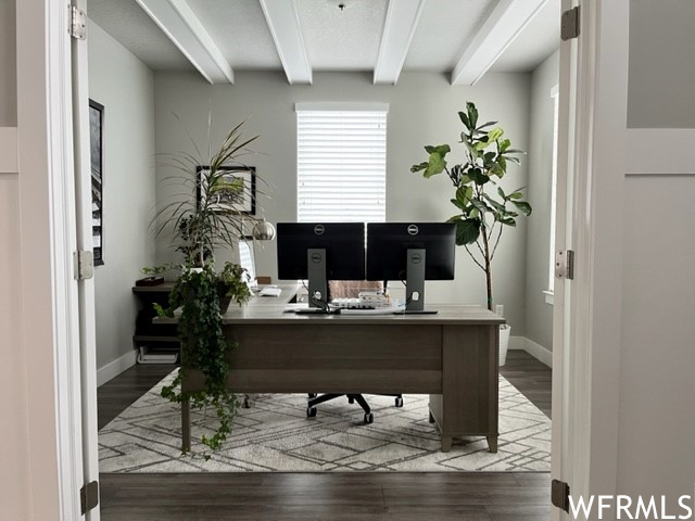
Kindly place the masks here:
[(14, 0), (0, 0), (0, 127), (17, 124)]

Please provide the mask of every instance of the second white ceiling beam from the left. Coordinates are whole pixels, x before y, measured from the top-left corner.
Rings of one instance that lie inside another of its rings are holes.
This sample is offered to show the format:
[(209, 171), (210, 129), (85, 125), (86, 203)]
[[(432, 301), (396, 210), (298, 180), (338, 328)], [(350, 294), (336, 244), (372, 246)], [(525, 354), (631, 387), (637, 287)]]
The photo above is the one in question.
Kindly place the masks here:
[(275, 40), (280, 62), (290, 84), (312, 82), (300, 16), (293, 0), (261, 0), (261, 8)]

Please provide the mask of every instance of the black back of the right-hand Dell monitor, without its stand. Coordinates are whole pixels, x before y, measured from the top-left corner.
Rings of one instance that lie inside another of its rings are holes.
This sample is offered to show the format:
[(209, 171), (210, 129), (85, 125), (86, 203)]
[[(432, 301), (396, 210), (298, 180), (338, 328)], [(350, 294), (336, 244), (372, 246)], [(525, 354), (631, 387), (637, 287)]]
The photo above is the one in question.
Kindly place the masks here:
[(426, 251), (425, 279), (453, 280), (456, 225), (452, 223), (369, 223), (367, 280), (405, 280), (407, 251)]

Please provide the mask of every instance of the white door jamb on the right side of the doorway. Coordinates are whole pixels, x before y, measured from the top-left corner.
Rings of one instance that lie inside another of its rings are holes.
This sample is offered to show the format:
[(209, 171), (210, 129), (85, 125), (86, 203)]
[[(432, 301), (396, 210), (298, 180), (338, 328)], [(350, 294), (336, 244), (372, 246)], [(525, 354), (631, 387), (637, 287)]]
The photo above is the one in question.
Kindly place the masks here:
[[(573, 497), (587, 498), (612, 495), (617, 485), (630, 5), (579, 3), (577, 240), (569, 245), (576, 250), (576, 279), (569, 358), (558, 368), (568, 378), (561, 443), (568, 443), (570, 460), (561, 461), (563, 473), (554, 478), (568, 482)], [(557, 511), (553, 516), (563, 519)]]

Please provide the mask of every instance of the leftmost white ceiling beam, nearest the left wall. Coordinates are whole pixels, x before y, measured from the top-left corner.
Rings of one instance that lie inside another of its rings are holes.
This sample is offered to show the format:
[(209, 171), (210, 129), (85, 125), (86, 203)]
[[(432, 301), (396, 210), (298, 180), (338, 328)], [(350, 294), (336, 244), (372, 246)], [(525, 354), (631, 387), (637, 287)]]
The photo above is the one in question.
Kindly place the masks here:
[(186, 0), (137, 0), (211, 84), (233, 84), (235, 73)]

